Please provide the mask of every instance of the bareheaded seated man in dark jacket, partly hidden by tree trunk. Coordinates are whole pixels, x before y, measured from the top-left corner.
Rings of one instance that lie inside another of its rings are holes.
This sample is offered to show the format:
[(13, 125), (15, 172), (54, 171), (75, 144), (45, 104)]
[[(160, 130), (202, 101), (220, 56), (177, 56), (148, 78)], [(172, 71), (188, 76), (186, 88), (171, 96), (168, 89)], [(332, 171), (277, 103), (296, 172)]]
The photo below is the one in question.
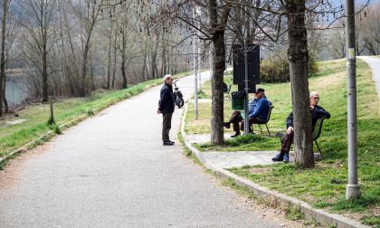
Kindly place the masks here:
[[(318, 91), (311, 91), (309, 95), (310, 99), (310, 111), (312, 117), (312, 126), (316, 125), (317, 119), (322, 117), (330, 118), (330, 113), (322, 107), (318, 106), (319, 94)], [(294, 128), (293, 128), (293, 112), (290, 112), (289, 117), (286, 119), (286, 135), (281, 140), (281, 150), (276, 157), (271, 158), (272, 161), (284, 161), (285, 163), (289, 162), (289, 151), (291, 143), (294, 139)]]

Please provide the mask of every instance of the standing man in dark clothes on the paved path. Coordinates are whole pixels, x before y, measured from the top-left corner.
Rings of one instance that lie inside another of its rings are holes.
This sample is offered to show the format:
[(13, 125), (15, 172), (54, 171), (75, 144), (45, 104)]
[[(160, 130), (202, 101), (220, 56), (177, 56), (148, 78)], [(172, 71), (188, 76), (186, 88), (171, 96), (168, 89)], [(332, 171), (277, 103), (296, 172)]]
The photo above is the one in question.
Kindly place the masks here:
[(162, 121), (162, 141), (164, 146), (173, 146), (175, 142), (170, 141), (169, 131), (172, 128), (172, 116), (175, 109), (175, 100), (173, 97), (173, 77), (170, 74), (164, 76), (164, 85), (160, 91), (157, 113), (163, 117)]

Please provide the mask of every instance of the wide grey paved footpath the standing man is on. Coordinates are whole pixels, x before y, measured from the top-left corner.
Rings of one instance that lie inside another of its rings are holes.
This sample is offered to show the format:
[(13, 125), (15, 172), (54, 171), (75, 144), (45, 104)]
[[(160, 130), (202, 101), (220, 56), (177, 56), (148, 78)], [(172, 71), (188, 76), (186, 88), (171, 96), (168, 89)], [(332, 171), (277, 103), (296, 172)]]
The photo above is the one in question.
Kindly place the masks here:
[[(188, 96), (193, 82), (177, 85)], [(11, 161), (0, 172), (0, 227), (280, 227), (284, 221), (215, 183), (179, 142), (162, 146), (159, 89)], [(182, 111), (176, 109), (172, 139)]]

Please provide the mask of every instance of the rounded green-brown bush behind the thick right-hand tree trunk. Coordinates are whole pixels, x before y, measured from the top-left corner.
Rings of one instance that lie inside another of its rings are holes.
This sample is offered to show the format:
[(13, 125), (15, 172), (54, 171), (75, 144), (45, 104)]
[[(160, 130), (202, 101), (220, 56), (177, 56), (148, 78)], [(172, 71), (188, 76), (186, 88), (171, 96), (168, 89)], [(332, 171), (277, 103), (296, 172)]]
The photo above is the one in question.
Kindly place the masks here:
[[(290, 81), (290, 65), (286, 51), (272, 52), (261, 62), (261, 82), (275, 83)], [(309, 53), (309, 76), (318, 71), (317, 59)]]

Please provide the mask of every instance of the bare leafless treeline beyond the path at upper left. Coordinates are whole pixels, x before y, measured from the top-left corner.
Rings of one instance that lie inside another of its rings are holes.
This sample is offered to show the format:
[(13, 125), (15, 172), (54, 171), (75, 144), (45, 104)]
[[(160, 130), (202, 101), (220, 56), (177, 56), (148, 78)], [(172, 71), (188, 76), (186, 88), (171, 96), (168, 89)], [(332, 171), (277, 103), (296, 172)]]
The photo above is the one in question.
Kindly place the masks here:
[(87, 96), (189, 69), (174, 28), (147, 28), (147, 1), (2, 0), (0, 116), (7, 71), (34, 98)]

